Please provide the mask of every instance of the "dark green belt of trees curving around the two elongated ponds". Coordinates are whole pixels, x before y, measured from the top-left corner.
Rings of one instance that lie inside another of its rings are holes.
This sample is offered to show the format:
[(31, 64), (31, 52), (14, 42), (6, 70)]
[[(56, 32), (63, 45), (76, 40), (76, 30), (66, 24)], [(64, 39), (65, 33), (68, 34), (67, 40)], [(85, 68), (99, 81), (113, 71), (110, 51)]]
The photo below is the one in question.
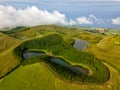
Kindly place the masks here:
[[(80, 81), (85, 83), (103, 83), (109, 79), (110, 73), (104, 64), (102, 64), (89, 52), (83, 52), (74, 49), (58, 34), (47, 35), (42, 38), (26, 41), (20, 46), (16, 47), (14, 52), (17, 56), (22, 57), (23, 52), (29, 49), (50, 51), (53, 55), (62, 56), (69, 62), (85, 64), (91, 69), (91, 71), (93, 71), (93, 75), (77, 75), (65, 67), (51, 63), (51, 68), (53, 68), (53, 70), (63, 78), (67, 78), (71, 81)], [(46, 59), (48, 60), (49, 58)]]

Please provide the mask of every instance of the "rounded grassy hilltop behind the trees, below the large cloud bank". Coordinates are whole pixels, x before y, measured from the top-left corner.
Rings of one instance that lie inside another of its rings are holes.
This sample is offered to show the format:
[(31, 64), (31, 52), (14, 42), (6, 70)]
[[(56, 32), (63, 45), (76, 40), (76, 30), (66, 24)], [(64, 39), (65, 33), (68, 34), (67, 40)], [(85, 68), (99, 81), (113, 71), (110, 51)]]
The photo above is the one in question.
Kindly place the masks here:
[(66, 34), (68, 33), (67, 31), (70, 29), (66, 29), (63, 27), (58, 27), (55, 25), (42, 25), (42, 26), (36, 26), (36, 27), (32, 27), (29, 30), (26, 30), (24, 32), (18, 32), (17, 34), (23, 35), (27, 38), (35, 38), (35, 37), (39, 37), (40, 35), (44, 35), (44, 34), (50, 34), (53, 32), (59, 32), (61, 34)]

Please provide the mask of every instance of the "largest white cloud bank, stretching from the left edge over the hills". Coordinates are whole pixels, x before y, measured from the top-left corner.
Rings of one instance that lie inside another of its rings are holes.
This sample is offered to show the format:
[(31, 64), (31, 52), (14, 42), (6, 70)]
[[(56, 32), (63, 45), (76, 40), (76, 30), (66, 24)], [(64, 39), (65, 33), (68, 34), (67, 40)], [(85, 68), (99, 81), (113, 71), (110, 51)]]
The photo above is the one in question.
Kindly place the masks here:
[(0, 28), (43, 24), (72, 25), (75, 21), (67, 20), (66, 16), (59, 11), (48, 12), (35, 6), (16, 9), (12, 6), (0, 5)]

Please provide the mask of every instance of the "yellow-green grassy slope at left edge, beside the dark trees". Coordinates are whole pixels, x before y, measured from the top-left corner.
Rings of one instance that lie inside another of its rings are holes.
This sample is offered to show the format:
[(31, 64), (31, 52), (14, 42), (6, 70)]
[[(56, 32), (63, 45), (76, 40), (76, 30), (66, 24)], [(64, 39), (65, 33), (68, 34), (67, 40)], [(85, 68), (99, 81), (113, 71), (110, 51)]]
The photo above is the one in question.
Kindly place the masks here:
[(21, 43), (20, 40), (3, 35), (0, 38), (0, 77), (7, 74), (19, 64), (12, 50)]

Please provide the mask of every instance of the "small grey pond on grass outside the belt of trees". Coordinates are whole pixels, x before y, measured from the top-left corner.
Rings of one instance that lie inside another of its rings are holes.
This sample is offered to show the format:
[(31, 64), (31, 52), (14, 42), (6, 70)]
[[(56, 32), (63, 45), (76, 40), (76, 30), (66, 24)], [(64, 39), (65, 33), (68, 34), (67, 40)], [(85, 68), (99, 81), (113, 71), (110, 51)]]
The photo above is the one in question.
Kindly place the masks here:
[(78, 50), (85, 50), (87, 48), (88, 44), (89, 43), (85, 40), (77, 39), (77, 40), (75, 40), (73, 47)]

